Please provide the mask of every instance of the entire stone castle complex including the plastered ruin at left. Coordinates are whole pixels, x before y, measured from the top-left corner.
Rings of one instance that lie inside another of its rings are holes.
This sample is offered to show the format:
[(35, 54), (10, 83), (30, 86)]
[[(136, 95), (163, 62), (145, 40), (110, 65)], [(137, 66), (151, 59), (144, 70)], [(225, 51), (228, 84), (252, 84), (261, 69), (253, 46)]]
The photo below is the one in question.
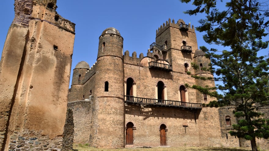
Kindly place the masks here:
[(68, 90), (75, 24), (56, 12), (56, 0), (15, 0), (15, 14), (0, 62), (1, 151), (68, 150), (73, 142), (250, 146), (228, 133), (236, 122), (232, 109), (203, 107), (214, 98), (186, 88), (215, 83), (191, 77), (213, 74), (194, 27), (183, 20), (163, 23), (139, 57), (123, 54), (120, 32), (105, 29), (96, 63), (79, 62)]

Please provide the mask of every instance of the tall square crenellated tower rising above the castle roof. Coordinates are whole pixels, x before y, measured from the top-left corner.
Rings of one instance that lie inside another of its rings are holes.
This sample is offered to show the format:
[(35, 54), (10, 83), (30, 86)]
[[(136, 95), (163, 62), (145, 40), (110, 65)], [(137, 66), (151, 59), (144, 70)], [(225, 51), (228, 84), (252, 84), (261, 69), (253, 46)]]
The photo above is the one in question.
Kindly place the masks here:
[[(156, 31), (156, 43), (166, 45), (166, 51), (162, 51), (163, 59), (167, 60), (173, 68), (173, 71), (185, 73), (184, 64), (187, 63), (190, 69), (190, 62), (194, 50), (198, 49), (197, 38), (194, 27), (185, 24), (182, 19), (177, 23), (173, 19), (166, 22)], [(179, 62), (180, 60), (180, 62)]]

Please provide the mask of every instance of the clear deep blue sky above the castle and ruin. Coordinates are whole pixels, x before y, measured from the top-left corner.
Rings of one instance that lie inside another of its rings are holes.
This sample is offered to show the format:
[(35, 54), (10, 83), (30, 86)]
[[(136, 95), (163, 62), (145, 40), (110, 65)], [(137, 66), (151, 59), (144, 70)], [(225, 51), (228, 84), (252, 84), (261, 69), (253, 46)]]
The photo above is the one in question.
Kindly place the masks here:
[[(14, 0), (1, 1), (0, 54), (14, 18)], [(95, 63), (99, 36), (108, 27), (120, 32), (123, 52), (128, 50), (131, 55), (135, 51), (137, 56), (140, 53), (146, 56), (149, 45), (155, 42), (156, 30), (169, 18), (175, 19), (175, 22), (183, 19), (186, 24), (191, 22), (191, 25), (198, 27), (198, 20), (205, 17), (203, 14), (184, 14), (194, 6), (179, 0), (58, 0), (57, 6), (58, 14), (76, 24), (71, 79), (77, 63), (86, 61), (90, 67)], [(203, 33), (196, 31), (196, 35), (198, 47), (205, 45), (212, 48), (202, 39)]]

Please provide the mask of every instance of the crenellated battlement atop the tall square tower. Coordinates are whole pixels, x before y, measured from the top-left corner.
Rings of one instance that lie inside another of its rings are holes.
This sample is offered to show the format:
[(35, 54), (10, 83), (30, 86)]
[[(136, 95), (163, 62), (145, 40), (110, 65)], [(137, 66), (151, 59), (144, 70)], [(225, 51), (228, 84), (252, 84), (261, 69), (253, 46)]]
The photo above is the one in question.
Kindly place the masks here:
[(163, 31), (165, 31), (168, 27), (174, 27), (178, 28), (179, 30), (183, 31), (191, 31), (194, 32), (194, 26), (192, 27), (189, 24), (185, 24), (185, 22), (182, 19), (179, 19), (177, 23), (175, 23), (175, 20), (173, 19), (171, 22), (171, 19), (169, 18), (166, 23), (163, 23), (157, 30), (156, 30), (156, 37), (159, 36)]

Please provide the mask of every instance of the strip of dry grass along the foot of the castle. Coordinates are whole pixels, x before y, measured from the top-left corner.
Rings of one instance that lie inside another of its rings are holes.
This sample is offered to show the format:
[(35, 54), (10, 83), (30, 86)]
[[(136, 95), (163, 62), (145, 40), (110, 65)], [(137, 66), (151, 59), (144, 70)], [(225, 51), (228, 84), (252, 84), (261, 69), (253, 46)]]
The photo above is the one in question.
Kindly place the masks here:
[(153, 148), (124, 148), (101, 149), (89, 147), (88, 144), (74, 144), (75, 151), (251, 151), (250, 148), (240, 147), (153, 147)]

